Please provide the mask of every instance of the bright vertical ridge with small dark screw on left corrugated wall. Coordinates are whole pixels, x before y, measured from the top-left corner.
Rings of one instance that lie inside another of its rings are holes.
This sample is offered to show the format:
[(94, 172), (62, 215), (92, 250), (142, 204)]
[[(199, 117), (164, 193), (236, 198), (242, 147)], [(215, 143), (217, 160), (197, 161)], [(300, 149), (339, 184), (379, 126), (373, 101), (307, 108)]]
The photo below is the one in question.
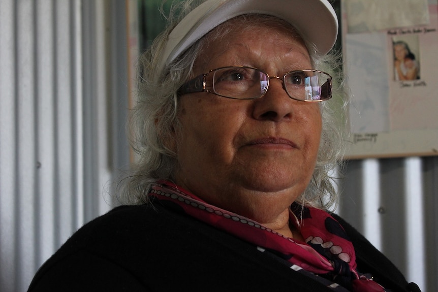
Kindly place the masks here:
[(54, 88), (54, 3), (40, 1), (36, 5), (36, 60), (38, 130), (37, 130), (37, 180), (39, 181), (38, 216), (36, 218), (37, 238), (40, 252), (37, 266), (50, 256), (55, 247), (55, 185), (56, 147), (55, 138), (55, 88)]

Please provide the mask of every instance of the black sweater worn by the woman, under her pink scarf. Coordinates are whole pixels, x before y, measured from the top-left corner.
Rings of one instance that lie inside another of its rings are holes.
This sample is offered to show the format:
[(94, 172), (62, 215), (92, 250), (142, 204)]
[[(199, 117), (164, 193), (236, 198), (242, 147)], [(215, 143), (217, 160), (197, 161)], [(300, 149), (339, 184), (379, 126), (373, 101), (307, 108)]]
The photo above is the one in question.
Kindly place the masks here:
[[(419, 291), (351, 225), (358, 271)], [(160, 204), (122, 206), (76, 232), (40, 268), (36, 291), (333, 291), (268, 252)]]

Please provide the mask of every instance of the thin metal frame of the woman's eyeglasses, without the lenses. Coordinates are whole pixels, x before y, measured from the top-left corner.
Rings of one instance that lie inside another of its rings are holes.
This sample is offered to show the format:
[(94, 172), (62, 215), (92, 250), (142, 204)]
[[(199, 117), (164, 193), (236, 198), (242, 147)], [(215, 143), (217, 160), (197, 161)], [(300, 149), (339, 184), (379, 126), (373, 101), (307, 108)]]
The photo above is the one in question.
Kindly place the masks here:
[[(215, 72), (217, 70), (222, 70), (222, 69), (225, 69), (225, 68), (248, 68), (248, 69), (254, 69), (254, 70), (260, 71), (261, 73), (265, 74), (266, 77), (267, 77), (267, 82), (268, 83), (266, 85), (265, 92), (263, 94), (261, 94), (260, 96), (258, 96), (257, 98), (239, 99), (239, 98), (232, 98), (230, 96), (221, 95), (221, 94), (218, 94), (218, 93), (214, 92), (213, 84), (211, 84), (211, 86), (213, 88), (212, 91), (210, 91), (208, 89), (205, 89), (207, 87), (207, 76), (210, 73), (212, 73), (212, 72)], [(295, 72), (316, 72), (316, 73), (323, 73), (323, 74), (327, 75), (329, 77), (329, 79), (327, 79), (327, 81), (324, 82), (323, 85), (320, 86), (320, 88), (322, 89), (325, 84), (328, 84), (328, 86), (327, 86), (328, 87), (327, 88), (327, 95), (326, 95), (328, 97), (325, 98), (325, 99), (321, 99), (321, 100), (299, 100), (299, 99), (293, 98), (289, 94), (288, 90), (286, 89), (285, 77), (286, 77), (286, 75), (289, 75), (289, 74), (295, 73)], [(264, 72), (264, 71), (262, 71), (262, 70), (260, 70), (258, 68), (248, 67), (248, 66), (225, 66), (225, 67), (220, 67), (220, 68), (216, 68), (216, 69), (211, 69), (207, 73), (200, 74), (200, 75), (190, 79), (189, 81), (185, 82), (184, 84), (182, 84), (179, 87), (177, 93), (178, 93), (178, 96), (181, 96), (181, 95), (188, 94), (188, 93), (208, 92), (208, 93), (212, 93), (212, 94), (215, 94), (215, 95), (218, 95), (218, 96), (222, 96), (223, 98), (227, 98), (227, 99), (234, 99), (234, 100), (256, 100), (256, 99), (262, 98), (266, 94), (266, 92), (268, 92), (270, 80), (272, 78), (281, 80), (281, 85), (283, 86), (283, 89), (285, 90), (286, 94), (288, 94), (289, 98), (292, 99), (292, 100), (299, 101), (299, 102), (324, 102), (324, 101), (327, 101), (327, 100), (332, 98), (332, 93), (333, 93), (332, 79), (333, 78), (331, 77), (330, 74), (328, 74), (328, 73), (326, 73), (324, 71), (314, 70), (314, 69), (293, 70), (293, 71), (286, 72), (283, 75), (283, 78), (281, 78), (279, 76), (269, 76), (268, 73), (266, 73), (266, 72)]]

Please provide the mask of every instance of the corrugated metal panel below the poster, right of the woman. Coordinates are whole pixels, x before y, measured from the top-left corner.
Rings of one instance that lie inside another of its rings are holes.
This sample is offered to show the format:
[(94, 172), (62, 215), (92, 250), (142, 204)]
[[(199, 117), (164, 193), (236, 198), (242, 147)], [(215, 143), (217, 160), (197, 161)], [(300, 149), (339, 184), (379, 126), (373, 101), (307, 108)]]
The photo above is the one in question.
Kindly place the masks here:
[(351, 160), (338, 212), (423, 291), (438, 290), (438, 157)]

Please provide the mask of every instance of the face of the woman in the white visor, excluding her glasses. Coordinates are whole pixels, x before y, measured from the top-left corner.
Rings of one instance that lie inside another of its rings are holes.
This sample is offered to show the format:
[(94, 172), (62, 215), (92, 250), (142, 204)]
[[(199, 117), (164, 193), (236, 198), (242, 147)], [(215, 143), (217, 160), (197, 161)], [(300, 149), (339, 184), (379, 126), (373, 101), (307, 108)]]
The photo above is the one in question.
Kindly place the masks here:
[[(301, 39), (284, 26), (235, 23), (204, 47), (194, 76), (225, 66), (269, 76), (311, 69)], [(321, 135), (318, 103), (295, 101), (271, 79), (263, 98), (233, 100), (208, 92), (181, 96), (176, 183), (207, 203), (261, 223), (276, 220), (306, 188)]]

